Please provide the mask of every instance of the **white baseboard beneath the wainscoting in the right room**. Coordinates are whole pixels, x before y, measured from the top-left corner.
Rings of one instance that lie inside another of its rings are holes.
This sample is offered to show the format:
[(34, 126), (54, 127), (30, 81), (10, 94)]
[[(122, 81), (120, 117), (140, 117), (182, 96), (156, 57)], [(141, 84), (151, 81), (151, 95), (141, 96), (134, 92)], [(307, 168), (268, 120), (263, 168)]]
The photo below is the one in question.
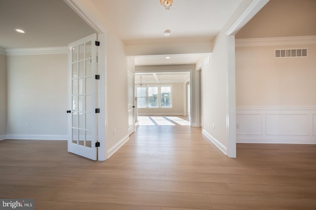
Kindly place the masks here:
[(253, 136), (237, 136), (236, 143), (251, 143), (251, 144), (308, 144), (315, 145), (316, 138), (314, 137), (253, 137)]

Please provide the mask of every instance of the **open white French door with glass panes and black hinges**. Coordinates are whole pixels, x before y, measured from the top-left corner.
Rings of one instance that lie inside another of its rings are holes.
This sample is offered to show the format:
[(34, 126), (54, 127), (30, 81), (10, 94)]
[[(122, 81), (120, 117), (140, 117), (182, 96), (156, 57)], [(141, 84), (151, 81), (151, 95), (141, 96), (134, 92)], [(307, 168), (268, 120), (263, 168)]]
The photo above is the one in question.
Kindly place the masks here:
[(68, 151), (96, 160), (97, 34), (69, 44)]

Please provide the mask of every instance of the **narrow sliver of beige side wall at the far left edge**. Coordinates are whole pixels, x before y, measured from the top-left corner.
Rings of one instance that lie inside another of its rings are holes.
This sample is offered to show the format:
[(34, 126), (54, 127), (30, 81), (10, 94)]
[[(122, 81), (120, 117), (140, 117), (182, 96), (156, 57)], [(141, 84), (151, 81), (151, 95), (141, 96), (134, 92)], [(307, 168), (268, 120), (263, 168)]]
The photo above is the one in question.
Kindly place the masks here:
[(6, 56), (0, 54), (0, 140), (6, 138)]

